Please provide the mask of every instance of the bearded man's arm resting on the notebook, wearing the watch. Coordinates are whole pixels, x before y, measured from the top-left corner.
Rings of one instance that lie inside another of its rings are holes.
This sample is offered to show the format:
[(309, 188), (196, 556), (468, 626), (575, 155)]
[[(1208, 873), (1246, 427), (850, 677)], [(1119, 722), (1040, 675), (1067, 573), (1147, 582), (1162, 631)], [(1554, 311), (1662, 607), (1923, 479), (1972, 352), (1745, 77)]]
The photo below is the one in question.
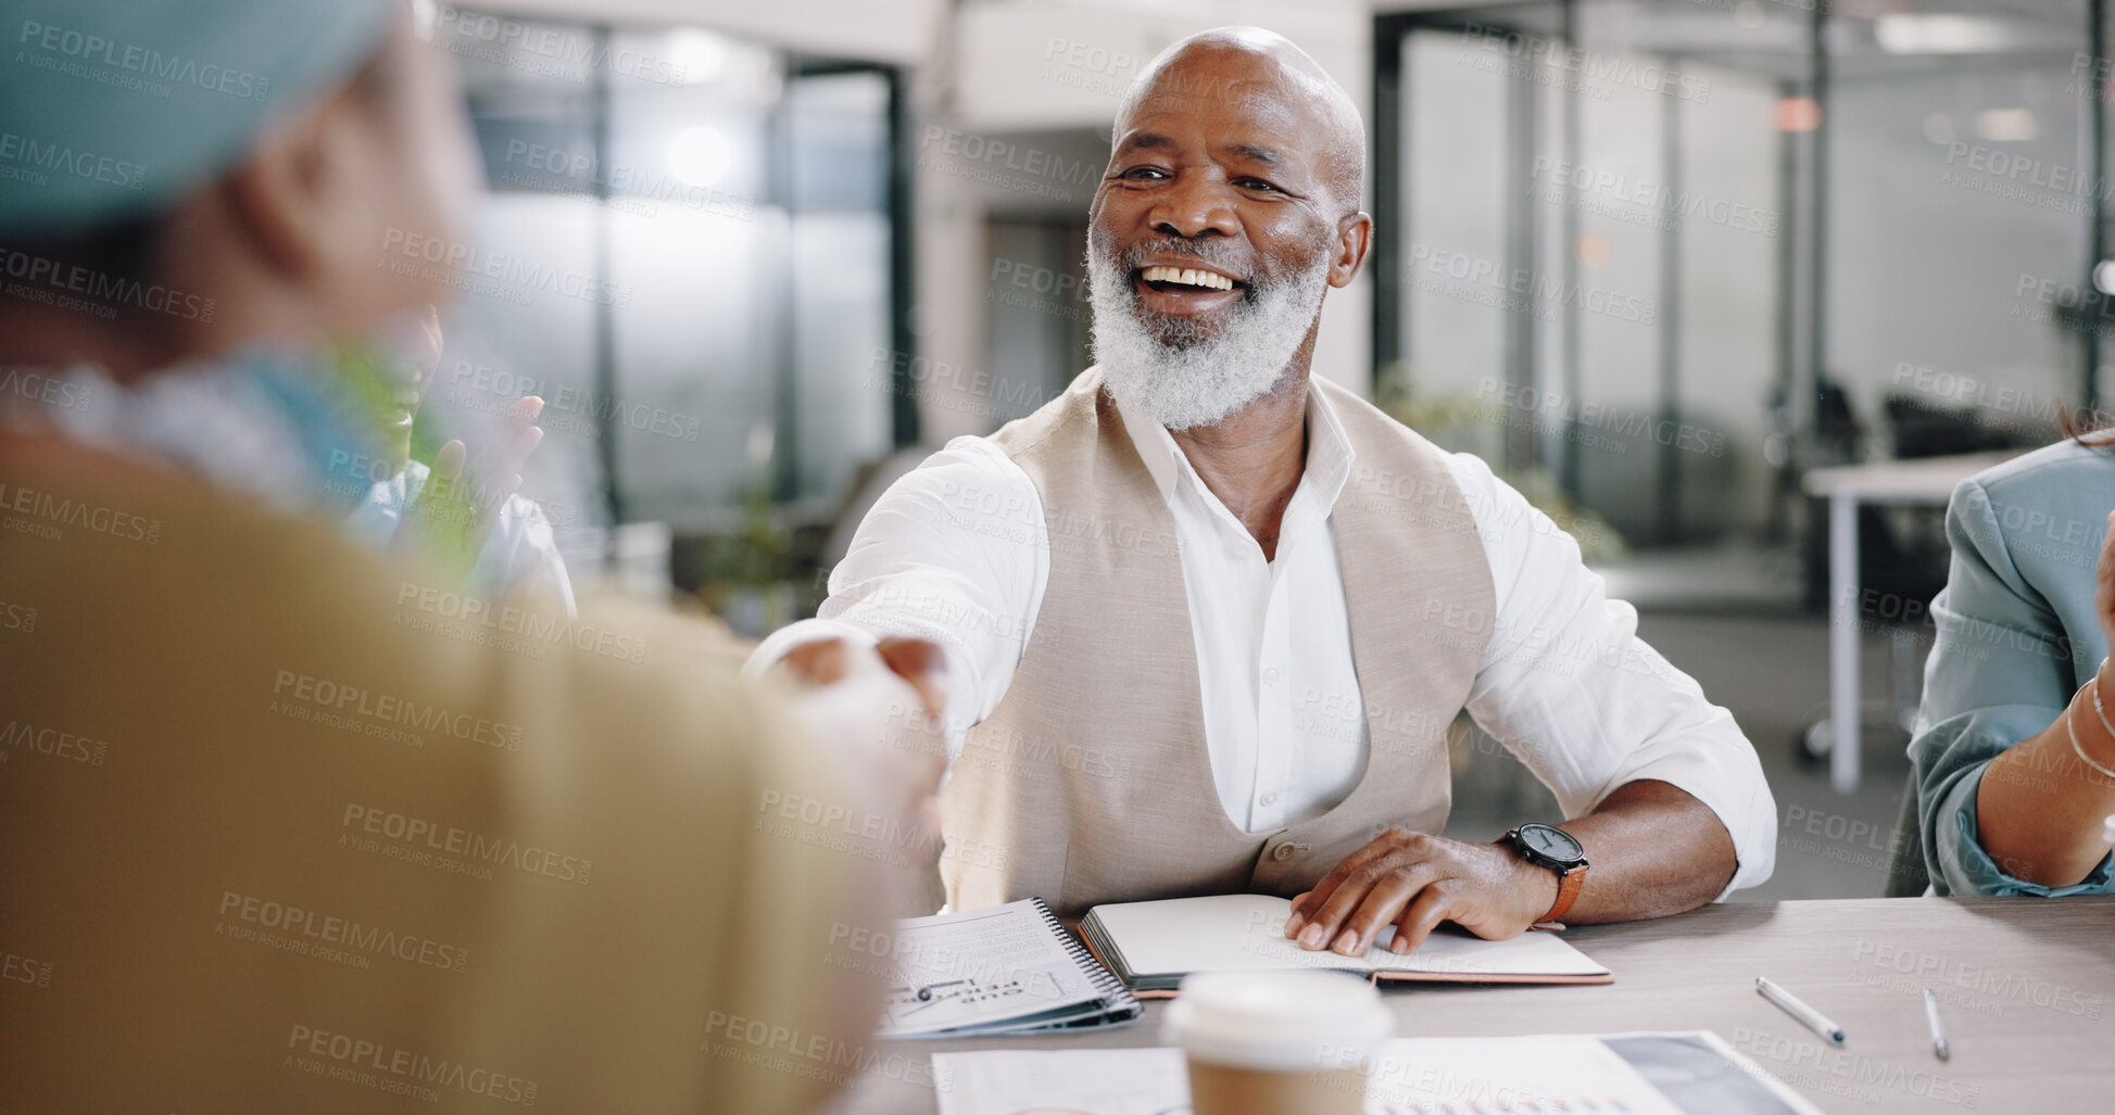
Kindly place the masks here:
[[(1468, 711), (1565, 815), (1519, 821), (1557, 823), (1584, 846), (1584, 884), (1563, 920), (1675, 914), (1768, 878), (1777, 806), (1732, 715), (1637, 639), (1637, 614), (1605, 597), (1548, 516), (1472, 457), (1455, 459), (1455, 478), (1497, 597)], [(1453, 920), (1510, 937), (1555, 897), (1557, 874), (1510, 846), (1390, 829), (1303, 895), (1288, 935), (1349, 950), (1400, 920), (1415, 946)], [(1339, 942), (1347, 922), (1358, 942)]]

